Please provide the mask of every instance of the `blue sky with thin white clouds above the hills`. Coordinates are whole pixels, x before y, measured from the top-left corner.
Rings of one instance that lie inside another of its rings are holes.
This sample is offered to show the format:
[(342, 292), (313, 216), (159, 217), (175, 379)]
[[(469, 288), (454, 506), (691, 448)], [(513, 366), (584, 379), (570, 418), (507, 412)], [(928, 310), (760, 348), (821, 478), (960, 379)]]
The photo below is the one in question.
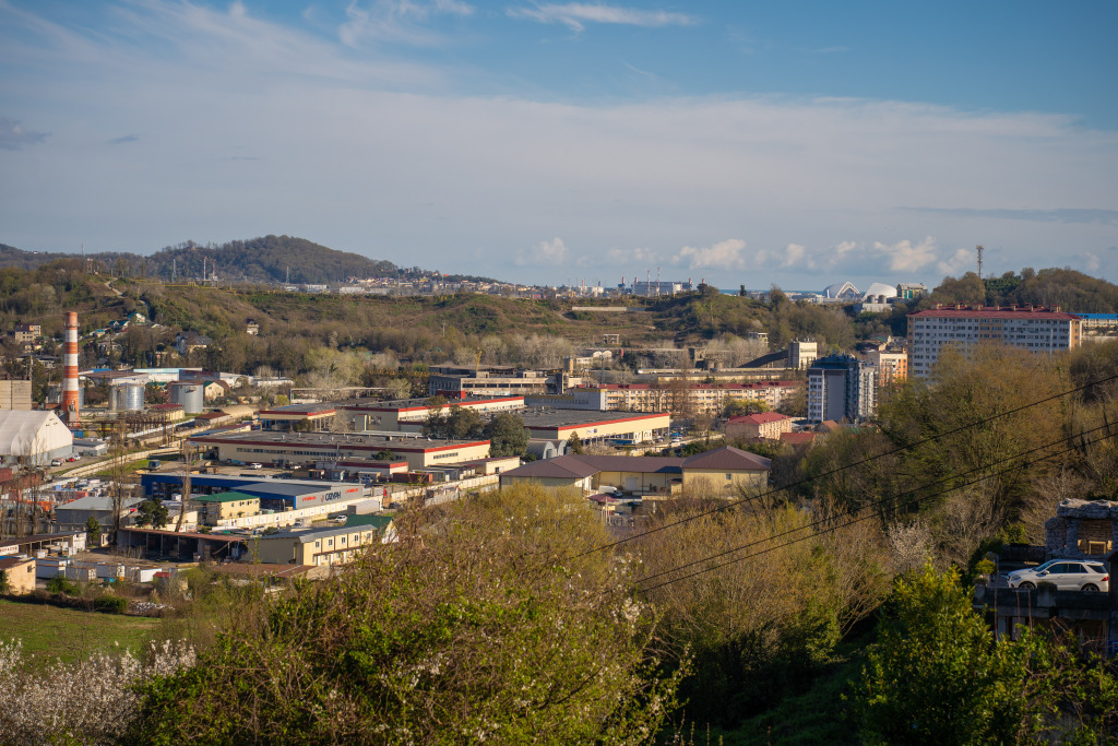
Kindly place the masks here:
[(0, 0), (0, 243), (1118, 282), (1118, 3)]

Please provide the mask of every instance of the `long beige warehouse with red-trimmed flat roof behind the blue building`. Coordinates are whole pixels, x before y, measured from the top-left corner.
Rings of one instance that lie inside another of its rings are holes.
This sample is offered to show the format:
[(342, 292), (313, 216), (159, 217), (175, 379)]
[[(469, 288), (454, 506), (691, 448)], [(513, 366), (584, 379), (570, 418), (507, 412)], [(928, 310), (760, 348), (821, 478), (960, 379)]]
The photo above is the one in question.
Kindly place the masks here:
[[(415, 471), (489, 456), (489, 441), (430, 441), (416, 435), (372, 433), (276, 433), (195, 435), (187, 444), (205, 457), (228, 463), (313, 465), (320, 461), (407, 461)], [(386, 456), (391, 456), (387, 457)]]

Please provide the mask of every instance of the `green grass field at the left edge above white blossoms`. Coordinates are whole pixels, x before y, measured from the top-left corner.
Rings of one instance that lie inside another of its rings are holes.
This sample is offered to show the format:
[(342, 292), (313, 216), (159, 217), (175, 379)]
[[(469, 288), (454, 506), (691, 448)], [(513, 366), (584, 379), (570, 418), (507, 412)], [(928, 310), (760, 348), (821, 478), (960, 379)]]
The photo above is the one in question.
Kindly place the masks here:
[(0, 601), (0, 639), (23, 642), (23, 654), (44, 663), (73, 661), (96, 651), (141, 650), (159, 620)]

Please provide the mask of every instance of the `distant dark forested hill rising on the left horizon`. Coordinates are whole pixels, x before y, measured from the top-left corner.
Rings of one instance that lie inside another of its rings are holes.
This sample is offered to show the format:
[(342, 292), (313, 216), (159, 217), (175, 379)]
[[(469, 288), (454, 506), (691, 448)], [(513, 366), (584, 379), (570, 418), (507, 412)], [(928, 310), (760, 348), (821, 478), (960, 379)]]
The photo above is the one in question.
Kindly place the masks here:
[[(22, 252), (0, 244), (0, 267), (31, 270), (73, 256), (77, 255)], [(292, 236), (264, 236), (205, 246), (188, 242), (169, 246), (151, 256), (103, 252), (89, 254), (88, 258), (116, 274), (164, 281), (171, 280), (172, 273), (178, 280), (201, 277), (203, 258), (207, 272), (216, 267), (220, 280), (234, 282), (276, 283), (286, 282), (290, 277), (293, 283), (322, 284), (396, 271), (391, 262), (339, 252)]]

